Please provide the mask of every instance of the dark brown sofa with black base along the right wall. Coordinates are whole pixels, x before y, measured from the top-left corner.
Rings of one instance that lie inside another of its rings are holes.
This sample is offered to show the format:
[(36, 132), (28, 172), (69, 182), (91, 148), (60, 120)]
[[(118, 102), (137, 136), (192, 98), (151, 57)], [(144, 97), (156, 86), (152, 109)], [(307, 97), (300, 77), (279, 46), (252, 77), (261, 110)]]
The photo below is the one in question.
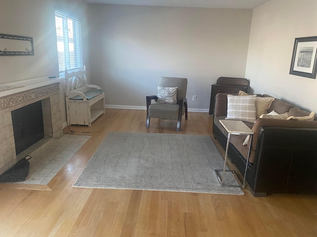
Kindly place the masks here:
[[(270, 97), (269, 95), (258, 95)], [(267, 112), (307, 116), (310, 112), (274, 99)], [(227, 115), (227, 94), (216, 95), (213, 136), (225, 149), (227, 133), (219, 123)], [(245, 122), (254, 132), (246, 181), (256, 197), (273, 193), (317, 194), (317, 117), (314, 121), (258, 118)], [(248, 146), (246, 136), (231, 135), (229, 159), (244, 174)]]

